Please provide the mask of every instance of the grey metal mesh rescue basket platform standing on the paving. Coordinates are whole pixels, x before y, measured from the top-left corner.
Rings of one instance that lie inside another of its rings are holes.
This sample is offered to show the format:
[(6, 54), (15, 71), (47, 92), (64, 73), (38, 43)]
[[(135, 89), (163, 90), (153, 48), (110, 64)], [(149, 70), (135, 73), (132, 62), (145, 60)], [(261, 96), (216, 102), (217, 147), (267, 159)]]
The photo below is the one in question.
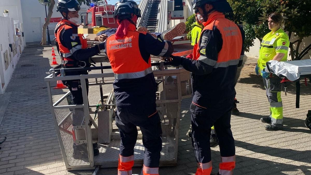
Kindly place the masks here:
[[(184, 69), (165, 69), (153, 72), (156, 82), (159, 84), (156, 92), (157, 111), (161, 117), (162, 126), (162, 151), (160, 158), (160, 166), (172, 166), (177, 164), (178, 140), (179, 140), (179, 118), (180, 105), (183, 98), (191, 96), (190, 74)], [(57, 76), (59, 72), (55, 70), (45, 78), (48, 87), (49, 99), (51, 104), (51, 112), (54, 118), (54, 124), (58, 134), (59, 143), (63, 152), (63, 157), (67, 170), (86, 170), (94, 169), (96, 165), (101, 167), (117, 167), (120, 140), (109, 140), (106, 144), (99, 144), (100, 154), (94, 157), (92, 148), (92, 139), (96, 135), (99, 137), (101, 123), (93, 121), (95, 128), (91, 129), (90, 114), (94, 113), (96, 105), (89, 104), (86, 93), (85, 79), (100, 78), (103, 81), (90, 83), (89, 86), (105, 84), (104, 78), (113, 77), (113, 73), (100, 73), (76, 76)], [(86, 105), (71, 105), (70, 92), (67, 92), (56, 102), (53, 103), (51, 93), (51, 82), (57, 80), (75, 80), (81, 81), (83, 103)], [(111, 83), (110, 83), (111, 84)], [(89, 94), (90, 95), (90, 94)], [(114, 110), (114, 103), (111, 102), (113, 93), (108, 95), (109, 100), (101, 99), (106, 106), (105, 109)], [(103, 96), (102, 96), (103, 97)], [(98, 98), (101, 95), (98, 94)], [(107, 120), (110, 122), (109, 136), (113, 133), (113, 112), (109, 112)], [(108, 123), (109, 123), (108, 122)], [(107, 122), (106, 122), (107, 123)], [(115, 130), (115, 129), (114, 129)], [(92, 132), (97, 132), (93, 134)], [(102, 133), (102, 132), (101, 132)], [(109, 137), (110, 138), (110, 137)], [(135, 146), (134, 166), (141, 166), (143, 163), (144, 147), (142, 140), (137, 140)]]

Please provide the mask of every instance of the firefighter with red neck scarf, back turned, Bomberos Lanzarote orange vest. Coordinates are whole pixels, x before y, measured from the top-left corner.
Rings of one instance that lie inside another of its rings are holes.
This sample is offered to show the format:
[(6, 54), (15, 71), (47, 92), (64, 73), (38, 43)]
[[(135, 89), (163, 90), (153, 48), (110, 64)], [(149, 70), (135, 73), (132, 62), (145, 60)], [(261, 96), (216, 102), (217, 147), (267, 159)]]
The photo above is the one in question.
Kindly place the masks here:
[(143, 174), (159, 174), (162, 130), (156, 110), (156, 91), (150, 55), (169, 56), (173, 45), (146, 32), (136, 31), (141, 12), (133, 0), (120, 0), (114, 6), (119, 26), (106, 40), (106, 54), (114, 72), (116, 125), (121, 143), (118, 174), (132, 174), (137, 126), (145, 147)]

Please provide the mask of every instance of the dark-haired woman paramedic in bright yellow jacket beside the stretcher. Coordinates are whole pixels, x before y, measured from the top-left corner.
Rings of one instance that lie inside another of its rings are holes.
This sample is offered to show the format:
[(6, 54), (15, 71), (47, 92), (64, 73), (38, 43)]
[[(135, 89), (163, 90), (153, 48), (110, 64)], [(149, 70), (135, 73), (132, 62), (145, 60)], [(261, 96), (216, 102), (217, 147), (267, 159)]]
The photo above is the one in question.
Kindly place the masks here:
[(283, 17), (280, 13), (272, 13), (268, 17), (268, 26), (271, 30), (262, 38), (259, 50), (259, 59), (255, 68), (256, 74), (261, 74), (266, 94), (270, 103), (270, 116), (260, 119), (266, 130), (283, 129), (283, 105), (281, 99), (281, 78), (265, 71), (266, 63), (270, 60), (286, 61), (290, 41), (282, 29)]

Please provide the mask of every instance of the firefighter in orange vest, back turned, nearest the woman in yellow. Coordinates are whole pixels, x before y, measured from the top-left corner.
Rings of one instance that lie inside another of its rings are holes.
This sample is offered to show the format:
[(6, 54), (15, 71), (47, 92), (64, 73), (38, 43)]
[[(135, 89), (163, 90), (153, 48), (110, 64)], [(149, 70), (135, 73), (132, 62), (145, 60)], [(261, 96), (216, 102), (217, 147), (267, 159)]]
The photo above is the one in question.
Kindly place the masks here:
[(204, 25), (197, 50), (193, 52), (193, 59), (171, 56), (171, 63), (181, 64), (194, 74), (190, 111), (192, 142), (198, 163), (196, 175), (209, 175), (212, 170), (209, 142), (212, 125), (222, 159), (219, 174), (231, 175), (235, 167), (235, 146), (230, 117), (242, 34), (239, 27), (223, 15), (232, 11), (226, 0), (194, 0), (193, 8)]

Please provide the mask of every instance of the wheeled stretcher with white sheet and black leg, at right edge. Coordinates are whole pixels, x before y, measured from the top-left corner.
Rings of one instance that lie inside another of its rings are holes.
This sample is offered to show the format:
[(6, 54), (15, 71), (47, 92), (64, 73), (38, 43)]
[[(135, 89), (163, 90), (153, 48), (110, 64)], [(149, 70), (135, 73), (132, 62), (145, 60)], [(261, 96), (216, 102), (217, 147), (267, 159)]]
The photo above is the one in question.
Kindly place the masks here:
[[(271, 60), (266, 65), (266, 72), (283, 78), (281, 83), (296, 83), (296, 108), (299, 108), (300, 80), (304, 78), (305, 84), (307, 85), (307, 78), (311, 77), (311, 59), (284, 62)], [(305, 125), (311, 130), (311, 110), (307, 114)]]

